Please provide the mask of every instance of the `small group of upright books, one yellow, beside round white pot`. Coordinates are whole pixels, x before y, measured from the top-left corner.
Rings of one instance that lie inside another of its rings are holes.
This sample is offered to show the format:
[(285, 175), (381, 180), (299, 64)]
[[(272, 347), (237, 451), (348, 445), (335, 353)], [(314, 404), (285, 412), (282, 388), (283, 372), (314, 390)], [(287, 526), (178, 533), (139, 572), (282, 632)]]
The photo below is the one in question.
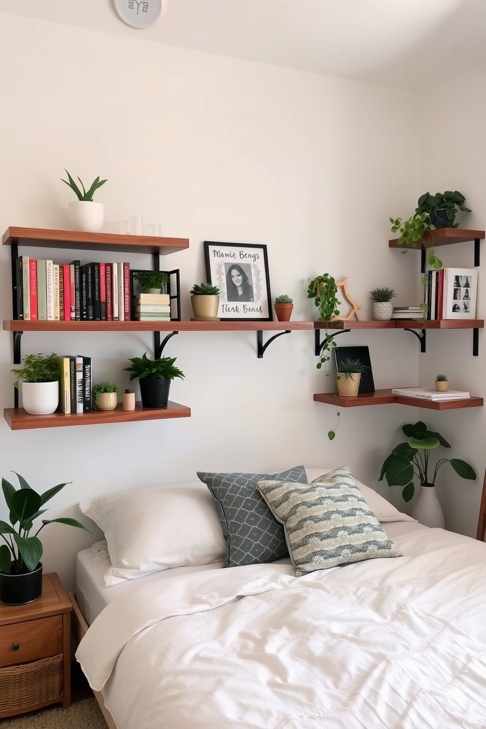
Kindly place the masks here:
[(79, 354), (58, 355), (60, 364), (59, 410), (61, 413), (90, 413), (91, 357)]

